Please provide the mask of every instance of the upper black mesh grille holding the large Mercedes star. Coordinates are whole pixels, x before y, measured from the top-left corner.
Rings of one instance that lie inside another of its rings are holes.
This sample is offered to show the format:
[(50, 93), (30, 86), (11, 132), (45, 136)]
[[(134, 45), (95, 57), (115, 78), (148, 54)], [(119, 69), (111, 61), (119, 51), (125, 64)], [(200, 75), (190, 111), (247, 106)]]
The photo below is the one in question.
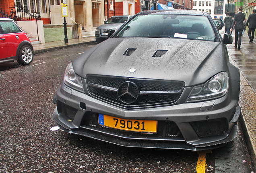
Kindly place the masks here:
[[(130, 90), (133, 95), (138, 95), (138, 98), (134, 99), (131, 95), (118, 97), (118, 92), (122, 93), (127, 90), (127, 85), (123, 85), (124, 82), (133, 83)], [(137, 89), (134, 84), (137, 86)], [(123, 107), (142, 107), (174, 103), (180, 97), (184, 83), (178, 81), (89, 75), (87, 76), (87, 86), (91, 95), (97, 98)]]

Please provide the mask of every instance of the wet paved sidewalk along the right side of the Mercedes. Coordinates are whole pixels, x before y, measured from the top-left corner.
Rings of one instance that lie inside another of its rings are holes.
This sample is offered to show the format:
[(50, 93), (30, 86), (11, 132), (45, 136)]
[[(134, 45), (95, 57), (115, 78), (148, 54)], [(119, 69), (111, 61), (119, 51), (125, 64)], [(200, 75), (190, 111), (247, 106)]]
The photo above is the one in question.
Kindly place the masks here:
[[(234, 33), (232, 34), (234, 41)], [(254, 40), (255, 41), (255, 40)], [(241, 49), (227, 44), (230, 62), (240, 70), (239, 106), (242, 109), (240, 122), (246, 144), (256, 170), (256, 42), (249, 43), (248, 35), (242, 37)]]

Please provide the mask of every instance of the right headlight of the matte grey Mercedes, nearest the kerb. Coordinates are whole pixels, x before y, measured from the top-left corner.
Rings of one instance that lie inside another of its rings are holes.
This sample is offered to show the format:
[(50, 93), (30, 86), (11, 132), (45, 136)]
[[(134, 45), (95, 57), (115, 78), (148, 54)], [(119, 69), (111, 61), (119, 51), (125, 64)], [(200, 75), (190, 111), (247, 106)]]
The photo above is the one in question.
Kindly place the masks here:
[(229, 78), (227, 72), (220, 72), (205, 84), (193, 87), (186, 103), (217, 99), (227, 93)]

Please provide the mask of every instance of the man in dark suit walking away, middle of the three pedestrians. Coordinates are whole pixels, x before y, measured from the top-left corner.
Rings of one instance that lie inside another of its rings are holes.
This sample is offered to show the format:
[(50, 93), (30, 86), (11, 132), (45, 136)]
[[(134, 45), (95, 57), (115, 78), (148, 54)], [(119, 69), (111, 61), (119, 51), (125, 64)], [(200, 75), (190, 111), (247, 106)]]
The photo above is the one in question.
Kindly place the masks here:
[(231, 31), (233, 30), (233, 26), (235, 24), (235, 48), (237, 48), (237, 41), (238, 41), (238, 48), (240, 49), (241, 43), (242, 43), (242, 33), (244, 30), (244, 19), (245, 19), (245, 14), (242, 13), (243, 8), (239, 7), (238, 8), (238, 13), (235, 14), (234, 20), (231, 25)]

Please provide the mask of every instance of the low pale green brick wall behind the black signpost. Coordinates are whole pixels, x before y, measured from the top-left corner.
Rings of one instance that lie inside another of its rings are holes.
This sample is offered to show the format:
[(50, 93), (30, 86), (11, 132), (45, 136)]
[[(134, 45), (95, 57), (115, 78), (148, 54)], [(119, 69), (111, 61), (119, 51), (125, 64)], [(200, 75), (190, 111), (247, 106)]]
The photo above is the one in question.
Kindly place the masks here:
[[(45, 42), (64, 40), (64, 28), (63, 25), (44, 25), (44, 39)], [(72, 39), (72, 26), (67, 24), (68, 39)]]

